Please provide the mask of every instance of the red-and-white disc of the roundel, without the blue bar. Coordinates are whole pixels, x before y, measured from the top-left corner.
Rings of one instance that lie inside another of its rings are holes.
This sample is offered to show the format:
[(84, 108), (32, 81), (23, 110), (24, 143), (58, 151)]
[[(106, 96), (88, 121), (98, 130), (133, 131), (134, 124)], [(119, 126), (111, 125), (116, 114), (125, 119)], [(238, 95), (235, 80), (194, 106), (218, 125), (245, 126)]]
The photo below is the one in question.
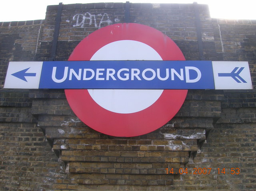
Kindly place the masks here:
[[(178, 46), (149, 26), (106, 26), (83, 39), (69, 61), (185, 60)], [(187, 90), (66, 89), (70, 107), (92, 129), (118, 137), (152, 132), (180, 110)]]

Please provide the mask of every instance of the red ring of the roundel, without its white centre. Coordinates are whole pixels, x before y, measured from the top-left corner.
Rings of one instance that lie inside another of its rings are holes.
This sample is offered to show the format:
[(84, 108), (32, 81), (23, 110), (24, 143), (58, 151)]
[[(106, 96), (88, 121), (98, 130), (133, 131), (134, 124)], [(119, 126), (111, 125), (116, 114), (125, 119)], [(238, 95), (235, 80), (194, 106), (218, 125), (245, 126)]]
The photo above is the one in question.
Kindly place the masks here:
[[(68, 60), (89, 61), (100, 48), (120, 40), (145, 43), (163, 60), (185, 60), (169, 37), (154, 28), (134, 23), (114, 24), (91, 33), (76, 46)], [(76, 116), (92, 129), (111, 136), (132, 137), (147, 134), (166, 124), (180, 110), (187, 90), (164, 90), (151, 106), (128, 114), (102, 108), (86, 89), (66, 89), (65, 94)]]

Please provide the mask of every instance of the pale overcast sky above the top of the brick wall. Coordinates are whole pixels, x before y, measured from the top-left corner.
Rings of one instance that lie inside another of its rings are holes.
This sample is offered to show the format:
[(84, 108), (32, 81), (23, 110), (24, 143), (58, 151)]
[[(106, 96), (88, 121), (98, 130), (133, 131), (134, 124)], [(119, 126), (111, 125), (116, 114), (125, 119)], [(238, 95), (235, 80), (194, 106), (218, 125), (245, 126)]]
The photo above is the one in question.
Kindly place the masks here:
[[(208, 4), (212, 18), (256, 20), (256, 0), (129, 0), (131, 3)], [(74, 3), (126, 2), (126, 0), (4, 0), (0, 3), (0, 22), (40, 20), (46, 7)]]

